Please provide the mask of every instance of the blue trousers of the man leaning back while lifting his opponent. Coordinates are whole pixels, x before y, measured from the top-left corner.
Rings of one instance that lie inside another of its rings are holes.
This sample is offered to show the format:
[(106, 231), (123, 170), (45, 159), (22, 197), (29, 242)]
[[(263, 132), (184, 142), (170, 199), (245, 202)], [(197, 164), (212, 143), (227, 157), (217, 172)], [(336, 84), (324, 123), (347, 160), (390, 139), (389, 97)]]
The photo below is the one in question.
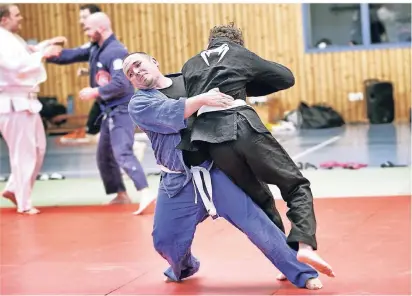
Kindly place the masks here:
[[(212, 168), (210, 177), (217, 214), (242, 231), (290, 282), (303, 288), (308, 279), (318, 276), (313, 268), (297, 261), (297, 253), (287, 245), (283, 232), (221, 170)], [(170, 264), (165, 275), (180, 281), (199, 269), (200, 263), (192, 255), (191, 245), (196, 226), (209, 214), (202, 199), (196, 198), (200, 192), (193, 182), (173, 198), (169, 198), (162, 187), (155, 210), (154, 247)]]

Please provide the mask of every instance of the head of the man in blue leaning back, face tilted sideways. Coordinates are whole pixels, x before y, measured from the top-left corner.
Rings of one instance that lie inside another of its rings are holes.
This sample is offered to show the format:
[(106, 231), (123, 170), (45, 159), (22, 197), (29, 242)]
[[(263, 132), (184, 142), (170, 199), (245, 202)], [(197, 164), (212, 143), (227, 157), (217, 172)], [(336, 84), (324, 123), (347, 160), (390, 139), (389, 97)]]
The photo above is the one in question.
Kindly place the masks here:
[(161, 73), (156, 60), (137, 55), (126, 76), (135, 88), (152, 89), (156, 85)]

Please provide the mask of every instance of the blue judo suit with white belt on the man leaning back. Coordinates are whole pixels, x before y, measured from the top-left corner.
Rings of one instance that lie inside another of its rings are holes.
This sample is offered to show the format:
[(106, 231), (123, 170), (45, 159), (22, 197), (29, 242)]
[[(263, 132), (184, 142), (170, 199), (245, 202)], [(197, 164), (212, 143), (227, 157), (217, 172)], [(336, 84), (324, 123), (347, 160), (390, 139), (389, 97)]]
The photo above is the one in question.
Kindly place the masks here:
[(152, 234), (156, 251), (170, 264), (164, 274), (180, 281), (199, 270), (191, 252), (196, 226), (217, 214), (242, 231), (295, 286), (305, 287), (318, 273), (297, 260), (286, 236), (252, 199), (210, 162), (191, 169), (184, 164), (176, 146), (187, 124), (185, 100), (139, 90), (129, 103), (132, 120), (150, 138), (162, 167)]

